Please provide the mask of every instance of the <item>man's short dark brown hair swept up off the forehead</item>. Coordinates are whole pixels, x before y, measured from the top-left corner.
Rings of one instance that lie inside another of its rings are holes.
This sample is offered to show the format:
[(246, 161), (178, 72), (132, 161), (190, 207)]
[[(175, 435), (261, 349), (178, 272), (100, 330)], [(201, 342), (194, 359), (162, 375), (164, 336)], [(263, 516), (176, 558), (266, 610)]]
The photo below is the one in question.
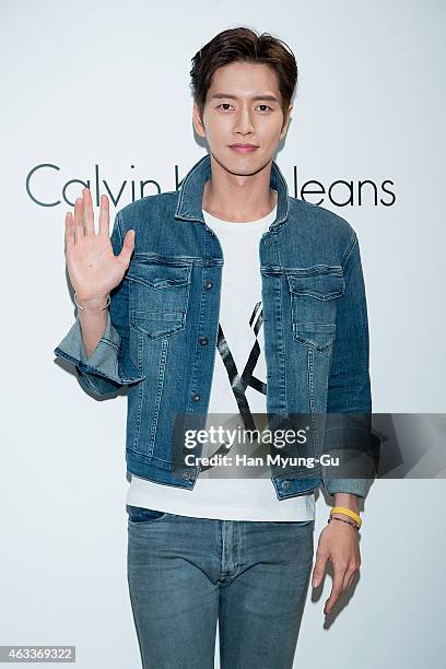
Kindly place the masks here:
[(275, 72), (285, 118), (297, 84), (298, 72), (294, 54), (282, 39), (270, 33), (259, 35), (251, 28), (239, 26), (215, 35), (192, 58), (190, 85), (201, 119), (213, 73), (216, 69), (237, 61), (265, 63)]

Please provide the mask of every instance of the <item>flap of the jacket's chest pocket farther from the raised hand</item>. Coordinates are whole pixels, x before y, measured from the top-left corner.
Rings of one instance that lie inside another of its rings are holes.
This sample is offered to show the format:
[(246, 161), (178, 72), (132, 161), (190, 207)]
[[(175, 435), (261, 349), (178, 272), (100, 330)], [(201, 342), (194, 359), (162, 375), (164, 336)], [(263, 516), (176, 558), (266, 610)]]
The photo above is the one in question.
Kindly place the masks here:
[(317, 300), (333, 300), (345, 292), (342, 268), (316, 266), (301, 270), (298, 273), (286, 273), (286, 279), (290, 292), (295, 295), (309, 295)]

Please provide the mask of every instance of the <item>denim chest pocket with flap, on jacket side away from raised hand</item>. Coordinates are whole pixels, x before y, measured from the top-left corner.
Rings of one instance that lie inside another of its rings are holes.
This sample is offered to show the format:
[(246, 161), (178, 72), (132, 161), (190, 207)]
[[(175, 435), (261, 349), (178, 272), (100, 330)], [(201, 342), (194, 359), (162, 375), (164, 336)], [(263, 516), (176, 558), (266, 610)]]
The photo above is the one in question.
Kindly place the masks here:
[(318, 351), (336, 337), (339, 297), (345, 292), (342, 267), (317, 265), (286, 272), (293, 338)]

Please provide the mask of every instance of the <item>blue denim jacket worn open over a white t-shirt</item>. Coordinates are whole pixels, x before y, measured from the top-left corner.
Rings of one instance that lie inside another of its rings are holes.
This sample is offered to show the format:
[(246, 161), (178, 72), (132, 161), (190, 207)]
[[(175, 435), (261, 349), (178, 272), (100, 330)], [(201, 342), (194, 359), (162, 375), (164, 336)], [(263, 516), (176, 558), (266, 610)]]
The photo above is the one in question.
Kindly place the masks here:
[[(224, 266), (202, 213), (210, 172), (206, 155), (179, 190), (144, 197), (116, 214), (115, 255), (130, 228), (136, 247), (111, 291), (104, 336), (87, 357), (77, 319), (54, 351), (75, 365), (81, 386), (94, 396), (128, 386), (128, 470), (189, 490), (199, 468), (173, 467), (171, 431), (173, 412), (206, 415), (210, 399)], [(356, 234), (341, 216), (291, 197), (274, 161), (270, 185), (277, 218), (259, 244), (267, 413), (368, 416), (368, 324)], [(357, 432), (334, 425), (330, 434), (330, 444), (342, 448)], [(315, 431), (316, 455), (322, 442)], [(320, 466), (306, 474), (300, 466), (271, 466), (271, 481), (278, 500), (322, 483), (329, 494), (365, 496), (367, 485), (366, 478), (326, 478)]]

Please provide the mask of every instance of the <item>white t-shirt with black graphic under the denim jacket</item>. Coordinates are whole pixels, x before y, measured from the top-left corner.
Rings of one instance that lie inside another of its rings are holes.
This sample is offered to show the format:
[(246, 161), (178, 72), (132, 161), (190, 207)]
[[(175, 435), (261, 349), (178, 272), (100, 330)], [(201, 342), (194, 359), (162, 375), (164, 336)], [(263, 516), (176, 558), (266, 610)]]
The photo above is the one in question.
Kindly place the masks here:
[[(227, 423), (224, 422), (225, 427), (233, 430), (239, 425), (243, 430), (240, 407), (233, 386), (237, 386), (237, 375), (243, 374), (247, 363), (251, 384), (248, 383), (244, 397), (239, 398), (243, 411), (245, 415), (248, 411), (248, 416), (254, 414), (254, 420), (256, 413), (265, 415), (267, 411), (259, 244), (262, 234), (275, 220), (277, 207), (262, 219), (249, 223), (222, 221), (204, 210), (203, 216), (219, 238), (224, 261), (220, 332), (208, 412), (214, 418), (211, 424), (216, 425), (216, 414), (226, 414), (222, 416), (222, 420), (230, 419)], [(216, 448), (212, 445), (202, 455), (212, 455)], [(247, 453), (246, 448), (244, 453)], [(231, 455), (232, 450), (226, 453)], [(221, 520), (315, 518), (314, 493), (279, 501), (270, 477), (269, 466), (254, 468), (248, 473), (239, 467), (211, 467), (200, 471), (192, 490), (186, 490), (132, 474), (127, 504), (181, 516)]]

